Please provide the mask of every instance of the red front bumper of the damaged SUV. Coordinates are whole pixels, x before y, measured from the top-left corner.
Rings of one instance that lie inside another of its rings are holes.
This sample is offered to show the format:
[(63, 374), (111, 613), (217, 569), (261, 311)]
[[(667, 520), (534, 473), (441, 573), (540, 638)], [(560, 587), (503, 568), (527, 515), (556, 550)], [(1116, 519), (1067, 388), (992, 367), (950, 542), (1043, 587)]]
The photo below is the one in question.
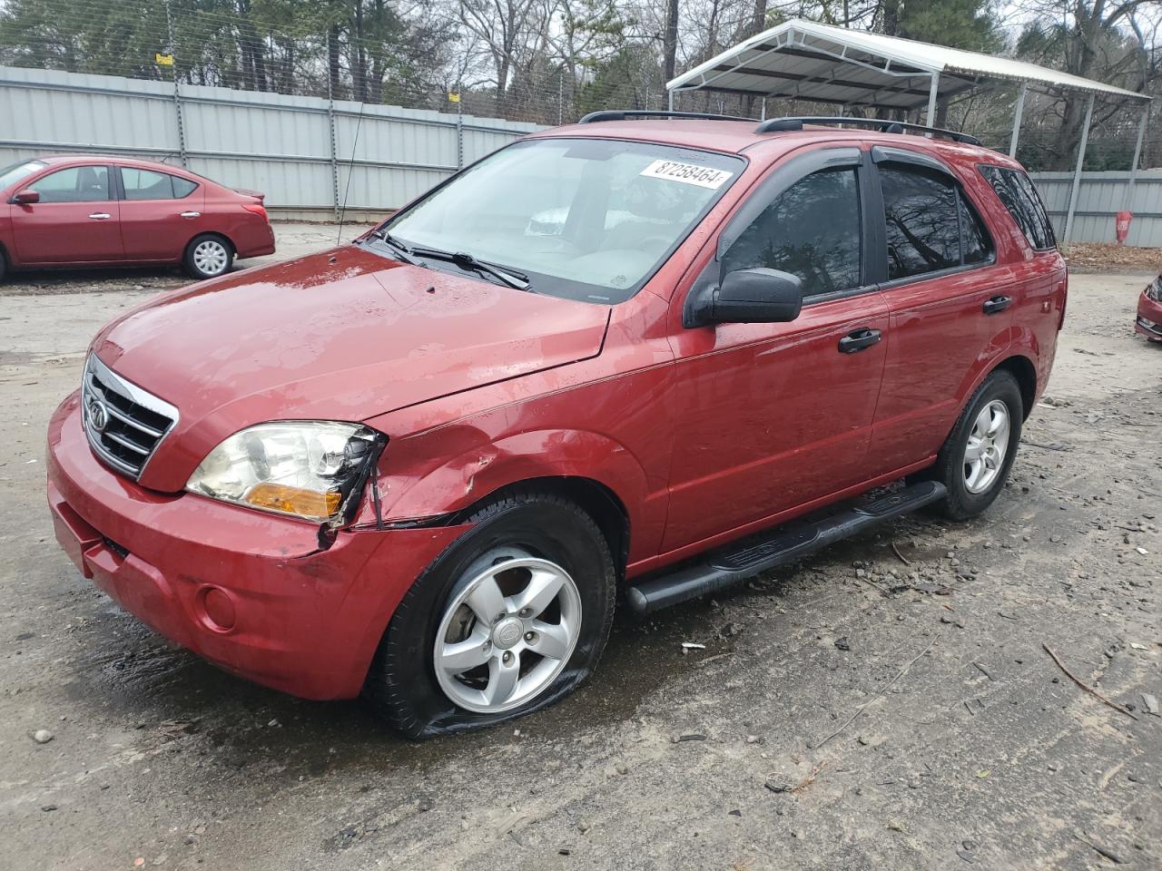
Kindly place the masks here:
[(57, 541), (125, 611), (223, 669), (294, 696), (352, 698), (388, 620), (464, 527), (342, 532), (192, 494), (158, 494), (106, 468), (78, 394), (49, 423)]

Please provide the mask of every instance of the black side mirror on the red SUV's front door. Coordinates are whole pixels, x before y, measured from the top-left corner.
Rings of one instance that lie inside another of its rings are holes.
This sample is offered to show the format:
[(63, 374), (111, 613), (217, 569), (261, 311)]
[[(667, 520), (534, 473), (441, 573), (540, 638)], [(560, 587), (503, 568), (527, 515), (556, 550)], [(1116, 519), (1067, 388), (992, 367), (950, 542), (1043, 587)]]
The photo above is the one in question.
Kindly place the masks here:
[(688, 307), (686, 326), (705, 324), (774, 324), (794, 321), (803, 308), (803, 282), (779, 269), (729, 272)]

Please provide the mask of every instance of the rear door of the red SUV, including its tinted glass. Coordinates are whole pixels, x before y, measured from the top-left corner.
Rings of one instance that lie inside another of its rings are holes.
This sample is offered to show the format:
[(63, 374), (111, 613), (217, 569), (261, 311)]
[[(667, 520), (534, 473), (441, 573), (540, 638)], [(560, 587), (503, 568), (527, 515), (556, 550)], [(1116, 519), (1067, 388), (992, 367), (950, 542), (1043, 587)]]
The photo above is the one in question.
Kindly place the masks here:
[(1009, 341), (1014, 273), (998, 266), (980, 210), (953, 172), (905, 147), (873, 147), (883, 201), (881, 291), (891, 341), (869, 468), (940, 449), (968, 387)]

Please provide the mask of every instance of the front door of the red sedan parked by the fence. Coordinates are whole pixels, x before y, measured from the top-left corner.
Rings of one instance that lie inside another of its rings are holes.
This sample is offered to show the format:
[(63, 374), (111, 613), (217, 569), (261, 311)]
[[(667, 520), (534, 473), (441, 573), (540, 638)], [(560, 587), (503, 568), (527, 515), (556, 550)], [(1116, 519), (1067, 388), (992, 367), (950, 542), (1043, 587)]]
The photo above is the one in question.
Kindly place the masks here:
[(30, 188), (41, 201), (13, 204), (12, 230), (22, 264), (83, 264), (124, 259), (112, 172), (105, 165), (69, 166), (41, 175)]

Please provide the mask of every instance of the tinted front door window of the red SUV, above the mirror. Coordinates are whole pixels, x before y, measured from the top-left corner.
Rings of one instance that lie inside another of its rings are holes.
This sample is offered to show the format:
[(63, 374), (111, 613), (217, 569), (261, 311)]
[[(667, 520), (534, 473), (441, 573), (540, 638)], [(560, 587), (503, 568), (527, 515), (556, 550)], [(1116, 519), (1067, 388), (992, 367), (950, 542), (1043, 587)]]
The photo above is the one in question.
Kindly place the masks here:
[(812, 296), (859, 287), (860, 189), (854, 168), (824, 170), (780, 194), (723, 257), (723, 274), (767, 267)]

